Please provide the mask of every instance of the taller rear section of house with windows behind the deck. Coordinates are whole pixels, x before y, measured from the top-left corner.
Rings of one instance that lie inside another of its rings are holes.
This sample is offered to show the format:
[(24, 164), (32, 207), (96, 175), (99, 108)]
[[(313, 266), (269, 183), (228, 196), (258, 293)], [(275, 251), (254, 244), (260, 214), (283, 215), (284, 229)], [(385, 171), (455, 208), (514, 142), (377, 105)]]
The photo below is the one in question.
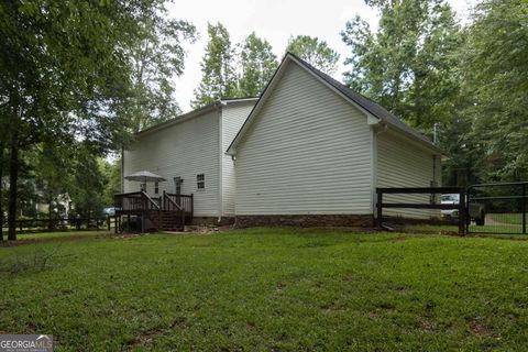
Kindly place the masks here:
[[(156, 173), (167, 180), (146, 184), (146, 193), (194, 195), (197, 220), (234, 217), (234, 166), (224, 154), (256, 98), (219, 100), (136, 134), (123, 151), (123, 175)], [(136, 182), (122, 179), (123, 191), (139, 191)], [(156, 187), (157, 186), (157, 187)]]

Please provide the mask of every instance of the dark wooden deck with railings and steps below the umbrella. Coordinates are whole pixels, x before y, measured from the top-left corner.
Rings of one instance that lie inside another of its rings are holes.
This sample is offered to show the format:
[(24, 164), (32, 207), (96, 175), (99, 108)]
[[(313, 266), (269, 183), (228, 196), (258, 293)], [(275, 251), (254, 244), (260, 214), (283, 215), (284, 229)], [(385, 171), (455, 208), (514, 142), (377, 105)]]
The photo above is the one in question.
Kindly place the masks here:
[(127, 217), (128, 227), (132, 218), (141, 218), (141, 232), (146, 230), (183, 230), (194, 217), (193, 195), (163, 193), (151, 197), (145, 191), (120, 194), (114, 196), (116, 232), (124, 230), (122, 218)]

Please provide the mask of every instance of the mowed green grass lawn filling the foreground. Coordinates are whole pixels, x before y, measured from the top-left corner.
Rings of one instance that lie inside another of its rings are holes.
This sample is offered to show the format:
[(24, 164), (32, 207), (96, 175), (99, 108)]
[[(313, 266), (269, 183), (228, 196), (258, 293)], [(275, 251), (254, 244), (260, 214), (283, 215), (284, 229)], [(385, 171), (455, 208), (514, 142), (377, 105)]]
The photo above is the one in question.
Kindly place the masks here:
[[(52, 333), (56, 351), (526, 351), (521, 239), (255, 229), (0, 248), (0, 333)], [(44, 271), (9, 273), (42, 253)]]

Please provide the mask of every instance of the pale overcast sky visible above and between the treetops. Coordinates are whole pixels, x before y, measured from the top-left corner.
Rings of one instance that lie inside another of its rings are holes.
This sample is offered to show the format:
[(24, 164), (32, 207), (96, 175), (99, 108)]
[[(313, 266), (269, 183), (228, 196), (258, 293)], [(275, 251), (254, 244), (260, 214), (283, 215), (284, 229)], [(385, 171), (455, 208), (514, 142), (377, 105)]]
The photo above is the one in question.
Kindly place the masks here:
[[(462, 23), (468, 21), (476, 0), (448, 0)], [(340, 32), (348, 20), (356, 14), (377, 28), (377, 11), (363, 0), (175, 0), (168, 7), (169, 15), (194, 23), (199, 32), (195, 44), (185, 45), (187, 59), (185, 73), (176, 78), (176, 100), (184, 112), (190, 110), (194, 90), (201, 79), (200, 62), (207, 45), (207, 23), (221, 22), (229, 31), (231, 43), (240, 43), (251, 32), (266, 38), (278, 58), (292, 35), (317, 36), (340, 53), (339, 69), (334, 78), (342, 80), (343, 65), (349, 48)]]

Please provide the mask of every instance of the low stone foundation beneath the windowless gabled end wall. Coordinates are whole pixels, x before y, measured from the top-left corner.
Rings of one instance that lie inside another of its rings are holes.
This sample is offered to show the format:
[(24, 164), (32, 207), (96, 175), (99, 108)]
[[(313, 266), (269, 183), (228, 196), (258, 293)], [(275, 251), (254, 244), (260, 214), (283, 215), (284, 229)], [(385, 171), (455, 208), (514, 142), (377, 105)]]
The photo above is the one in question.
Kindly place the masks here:
[(372, 228), (372, 215), (237, 216), (234, 227)]

